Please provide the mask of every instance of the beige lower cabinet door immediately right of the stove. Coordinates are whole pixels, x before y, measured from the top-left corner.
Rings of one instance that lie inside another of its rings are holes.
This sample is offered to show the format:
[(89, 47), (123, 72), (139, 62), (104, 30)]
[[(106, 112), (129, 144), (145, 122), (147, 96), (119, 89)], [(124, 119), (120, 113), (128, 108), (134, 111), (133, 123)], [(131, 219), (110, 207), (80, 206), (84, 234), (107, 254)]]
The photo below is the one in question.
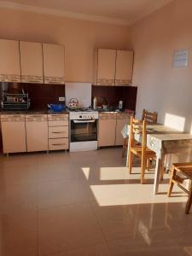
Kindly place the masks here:
[(116, 119), (99, 119), (99, 147), (114, 146)]

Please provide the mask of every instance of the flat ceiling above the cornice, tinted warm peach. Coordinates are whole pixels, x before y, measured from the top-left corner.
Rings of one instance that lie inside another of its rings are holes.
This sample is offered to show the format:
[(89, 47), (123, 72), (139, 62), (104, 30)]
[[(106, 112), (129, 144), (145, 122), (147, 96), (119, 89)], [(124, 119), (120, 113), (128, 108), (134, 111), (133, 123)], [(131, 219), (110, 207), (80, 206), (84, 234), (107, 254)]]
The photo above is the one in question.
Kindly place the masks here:
[(72, 16), (131, 25), (172, 0), (7, 0), (0, 7), (31, 9), (42, 13)]

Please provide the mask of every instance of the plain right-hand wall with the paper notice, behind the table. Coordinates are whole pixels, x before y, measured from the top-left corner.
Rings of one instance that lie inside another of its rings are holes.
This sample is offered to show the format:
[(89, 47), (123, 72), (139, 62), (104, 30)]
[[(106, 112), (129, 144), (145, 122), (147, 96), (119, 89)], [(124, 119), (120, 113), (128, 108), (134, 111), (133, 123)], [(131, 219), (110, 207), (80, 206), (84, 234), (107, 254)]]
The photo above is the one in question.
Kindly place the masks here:
[[(135, 50), (133, 84), (138, 85), (137, 116), (143, 108), (190, 131), (192, 124), (192, 1), (176, 0), (131, 26)], [(189, 49), (189, 66), (172, 67), (174, 49)], [(177, 116), (180, 118), (177, 119)]]

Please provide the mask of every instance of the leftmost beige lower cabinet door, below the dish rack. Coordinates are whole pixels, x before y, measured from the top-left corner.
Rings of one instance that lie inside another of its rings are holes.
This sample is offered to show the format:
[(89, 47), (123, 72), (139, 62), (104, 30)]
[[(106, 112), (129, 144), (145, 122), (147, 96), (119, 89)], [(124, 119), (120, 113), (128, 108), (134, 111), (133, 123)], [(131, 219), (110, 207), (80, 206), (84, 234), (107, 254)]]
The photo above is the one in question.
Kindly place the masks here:
[(8, 114), (1, 116), (3, 153), (26, 152), (25, 115)]

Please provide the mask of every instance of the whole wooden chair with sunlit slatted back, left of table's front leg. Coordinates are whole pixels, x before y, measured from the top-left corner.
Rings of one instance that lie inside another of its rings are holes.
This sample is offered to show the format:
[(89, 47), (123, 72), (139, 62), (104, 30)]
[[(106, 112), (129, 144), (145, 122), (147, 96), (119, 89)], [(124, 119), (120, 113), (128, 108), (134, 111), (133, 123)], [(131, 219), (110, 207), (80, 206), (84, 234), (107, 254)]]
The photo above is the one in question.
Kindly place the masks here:
[[(136, 136), (142, 136), (142, 143), (138, 144)], [(154, 159), (154, 151), (147, 148), (146, 120), (140, 121), (131, 117), (131, 130), (129, 135), (129, 155), (128, 167), (131, 174), (133, 156), (137, 155), (142, 160), (141, 163), (141, 183), (144, 183), (145, 170), (148, 167), (147, 162)]]

